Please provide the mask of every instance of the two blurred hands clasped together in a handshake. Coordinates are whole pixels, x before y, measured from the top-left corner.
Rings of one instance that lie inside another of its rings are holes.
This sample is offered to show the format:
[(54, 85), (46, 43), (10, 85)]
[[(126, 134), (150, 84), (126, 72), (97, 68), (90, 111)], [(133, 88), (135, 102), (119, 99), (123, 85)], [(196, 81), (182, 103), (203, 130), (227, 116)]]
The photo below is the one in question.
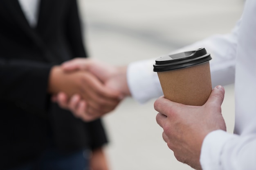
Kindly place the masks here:
[(61, 108), (91, 121), (114, 110), (125, 96), (130, 96), (126, 68), (76, 58), (52, 68), (48, 92)]

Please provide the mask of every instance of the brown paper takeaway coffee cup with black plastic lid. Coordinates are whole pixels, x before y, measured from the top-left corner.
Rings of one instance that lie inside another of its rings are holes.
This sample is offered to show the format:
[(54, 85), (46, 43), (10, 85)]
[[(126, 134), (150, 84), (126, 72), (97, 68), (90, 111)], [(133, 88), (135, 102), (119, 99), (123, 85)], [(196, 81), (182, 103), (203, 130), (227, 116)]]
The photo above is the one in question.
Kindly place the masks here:
[(156, 59), (164, 98), (185, 105), (201, 106), (211, 94), (211, 55), (205, 48), (165, 55)]

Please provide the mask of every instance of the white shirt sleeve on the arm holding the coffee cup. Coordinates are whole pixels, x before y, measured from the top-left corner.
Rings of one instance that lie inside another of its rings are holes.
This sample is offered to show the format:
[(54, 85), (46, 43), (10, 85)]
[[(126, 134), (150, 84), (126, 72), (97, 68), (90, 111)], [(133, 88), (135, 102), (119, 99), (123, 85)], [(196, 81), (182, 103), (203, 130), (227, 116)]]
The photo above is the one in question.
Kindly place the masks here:
[[(203, 141), (200, 163), (203, 170), (255, 170), (256, 135), (233, 135), (213, 131)], [(211, 147), (209, 147), (211, 146)]]

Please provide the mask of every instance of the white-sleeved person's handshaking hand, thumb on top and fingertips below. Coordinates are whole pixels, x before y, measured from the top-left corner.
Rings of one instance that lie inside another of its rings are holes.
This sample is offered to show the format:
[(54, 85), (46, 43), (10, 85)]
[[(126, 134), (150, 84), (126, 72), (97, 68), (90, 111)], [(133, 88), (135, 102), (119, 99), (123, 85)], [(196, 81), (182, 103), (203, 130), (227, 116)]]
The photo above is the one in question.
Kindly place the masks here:
[[(126, 66), (117, 67), (97, 60), (76, 58), (63, 63), (61, 67), (66, 72), (75, 72), (77, 70), (89, 71), (97, 76), (106, 88), (121, 92), (120, 99), (124, 98), (124, 96), (130, 96), (126, 80)], [(71, 110), (74, 116), (82, 120), (87, 120), (88, 117), (91, 119), (98, 118), (105, 114), (102, 112), (102, 114), (90, 114), (87, 109), (89, 101), (81, 98), (78, 94), (72, 96), (69, 100), (67, 94), (61, 92), (56, 96), (55, 101), (58, 102), (60, 107)]]

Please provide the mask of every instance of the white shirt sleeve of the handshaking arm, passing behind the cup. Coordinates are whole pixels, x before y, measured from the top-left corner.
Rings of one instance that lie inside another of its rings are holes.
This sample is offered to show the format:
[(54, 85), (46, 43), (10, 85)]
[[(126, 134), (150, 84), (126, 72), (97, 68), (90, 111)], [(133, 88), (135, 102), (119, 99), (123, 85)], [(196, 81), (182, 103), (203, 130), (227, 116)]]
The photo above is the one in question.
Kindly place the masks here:
[[(212, 86), (234, 83), (236, 45), (240, 21), (227, 35), (214, 35), (208, 39), (175, 50), (172, 53), (205, 48), (213, 58), (210, 61)], [(171, 54), (171, 53), (170, 53)], [(157, 58), (157, 57), (156, 57)], [(156, 59), (155, 58), (155, 59)], [(127, 70), (127, 82), (132, 98), (140, 103), (163, 95), (156, 72), (153, 72), (155, 59), (130, 63)]]

